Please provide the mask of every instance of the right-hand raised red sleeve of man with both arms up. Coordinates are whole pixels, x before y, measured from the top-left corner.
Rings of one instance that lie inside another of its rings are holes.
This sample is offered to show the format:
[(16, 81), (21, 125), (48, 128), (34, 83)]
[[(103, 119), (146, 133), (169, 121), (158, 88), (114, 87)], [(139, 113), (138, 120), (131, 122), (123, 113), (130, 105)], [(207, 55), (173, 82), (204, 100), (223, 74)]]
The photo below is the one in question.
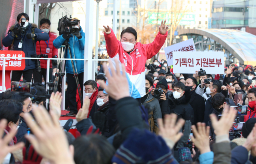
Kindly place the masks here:
[(160, 51), (160, 49), (164, 45), (167, 35), (168, 31), (164, 35), (158, 32), (156, 38), (152, 43), (142, 45), (146, 49), (147, 59), (151, 59)]

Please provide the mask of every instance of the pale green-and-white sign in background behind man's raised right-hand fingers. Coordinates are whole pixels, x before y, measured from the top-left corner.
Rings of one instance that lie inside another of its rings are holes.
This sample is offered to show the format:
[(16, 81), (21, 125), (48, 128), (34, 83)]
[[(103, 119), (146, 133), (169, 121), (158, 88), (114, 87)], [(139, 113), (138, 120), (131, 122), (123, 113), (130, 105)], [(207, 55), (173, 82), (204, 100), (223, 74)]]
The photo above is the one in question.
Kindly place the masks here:
[[(178, 18), (177, 18), (178, 16)], [(159, 12), (157, 16), (157, 12), (148, 12), (148, 23), (149, 24), (156, 24), (156, 20), (158, 18), (158, 23), (161, 23), (162, 20), (166, 20), (166, 24), (171, 23), (171, 17), (174, 20), (180, 20), (182, 14), (171, 14), (168, 12)], [(182, 19), (179, 22), (179, 25), (194, 25), (195, 21), (195, 14), (184, 14)]]

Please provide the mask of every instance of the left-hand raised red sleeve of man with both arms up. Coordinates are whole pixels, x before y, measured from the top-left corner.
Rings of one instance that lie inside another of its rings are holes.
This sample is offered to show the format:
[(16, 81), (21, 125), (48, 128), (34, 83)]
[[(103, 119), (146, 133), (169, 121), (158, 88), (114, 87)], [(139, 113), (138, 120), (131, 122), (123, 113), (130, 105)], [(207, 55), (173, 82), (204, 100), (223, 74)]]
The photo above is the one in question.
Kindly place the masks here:
[(104, 33), (104, 37), (106, 40), (106, 49), (108, 52), (108, 56), (113, 58), (116, 56), (119, 50), (118, 40), (116, 39), (116, 35), (112, 29), (110, 34)]

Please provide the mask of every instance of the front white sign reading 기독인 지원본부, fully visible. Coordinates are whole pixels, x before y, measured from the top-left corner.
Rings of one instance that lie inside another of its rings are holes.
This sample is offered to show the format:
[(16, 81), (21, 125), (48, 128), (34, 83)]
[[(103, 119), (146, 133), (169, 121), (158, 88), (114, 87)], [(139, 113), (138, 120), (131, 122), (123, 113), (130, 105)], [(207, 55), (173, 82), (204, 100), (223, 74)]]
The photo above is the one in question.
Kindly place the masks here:
[(202, 68), (206, 74), (224, 74), (224, 52), (173, 52), (173, 72), (194, 74)]

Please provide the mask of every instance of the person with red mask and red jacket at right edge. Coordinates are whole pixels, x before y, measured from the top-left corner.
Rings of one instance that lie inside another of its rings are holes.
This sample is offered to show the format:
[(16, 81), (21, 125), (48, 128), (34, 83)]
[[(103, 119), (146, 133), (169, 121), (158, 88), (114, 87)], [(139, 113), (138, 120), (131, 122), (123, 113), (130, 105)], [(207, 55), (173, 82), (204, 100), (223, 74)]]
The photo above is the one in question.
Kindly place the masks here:
[(244, 116), (244, 122), (256, 117), (256, 88), (248, 90), (248, 109), (247, 115)]

